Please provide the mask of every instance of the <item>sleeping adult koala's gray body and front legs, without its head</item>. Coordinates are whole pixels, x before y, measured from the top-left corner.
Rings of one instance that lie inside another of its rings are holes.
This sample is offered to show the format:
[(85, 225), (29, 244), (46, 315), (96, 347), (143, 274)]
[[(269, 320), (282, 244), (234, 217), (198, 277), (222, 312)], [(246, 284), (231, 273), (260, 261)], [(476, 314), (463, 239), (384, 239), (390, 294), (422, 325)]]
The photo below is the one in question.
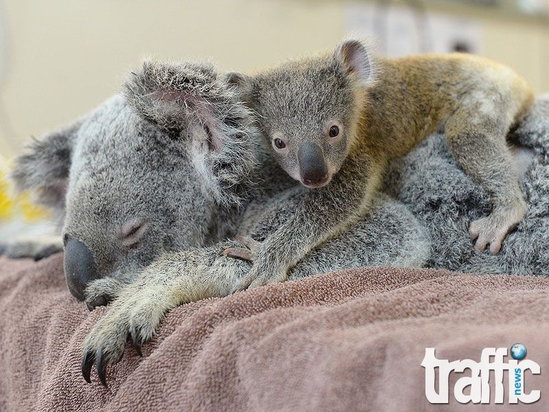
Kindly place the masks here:
[[(548, 275), (548, 126), (549, 96), (537, 100), (533, 111), (513, 133), (517, 143), (534, 151), (535, 158), (523, 180), (528, 212), (499, 255), (474, 248), (467, 227), (471, 219), (489, 209), (489, 198), (460, 171), (447, 152), (443, 136), (435, 135), (388, 170), (384, 188), (401, 203), (384, 194), (377, 196), (371, 215), (309, 252), (291, 269), (290, 279), (388, 261), (421, 264), (425, 256), (425, 264), (432, 267)], [(304, 191), (303, 187), (293, 187), (274, 197), (259, 196), (248, 205), (240, 233), (263, 240), (285, 221)], [(415, 216), (409, 214), (410, 209)], [(428, 233), (423, 231), (425, 228)], [(393, 236), (395, 233), (398, 236)], [(226, 240), (211, 247), (166, 253), (146, 267), (132, 284), (110, 279), (93, 282), (87, 290), (89, 300), (106, 291), (117, 299), (84, 342), (84, 378), (91, 380), (95, 363), (100, 380), (106, 384), (106, 366), (119, 361), (128, 334), (140, 352), (141, 345), (153, 336), (171, 308), (188, 301), (229, 295), (251, 264), (224, 258), (221, 253), (229, 247), (244, 246), (247, 245), (237, 240)]]

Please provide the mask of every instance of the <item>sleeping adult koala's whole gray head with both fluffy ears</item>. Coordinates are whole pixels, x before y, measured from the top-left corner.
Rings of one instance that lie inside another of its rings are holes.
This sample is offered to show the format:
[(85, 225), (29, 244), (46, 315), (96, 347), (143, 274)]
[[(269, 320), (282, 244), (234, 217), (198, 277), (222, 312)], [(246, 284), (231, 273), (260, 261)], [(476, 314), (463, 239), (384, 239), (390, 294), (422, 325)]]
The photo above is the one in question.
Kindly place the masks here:
[(256, 134), (210, 65), (145, 62), (124, 95), (37, 141), (13, 176), (60, 212), (67, 286), (83, 300), (94, 279), (212, 241), (252, 185)]

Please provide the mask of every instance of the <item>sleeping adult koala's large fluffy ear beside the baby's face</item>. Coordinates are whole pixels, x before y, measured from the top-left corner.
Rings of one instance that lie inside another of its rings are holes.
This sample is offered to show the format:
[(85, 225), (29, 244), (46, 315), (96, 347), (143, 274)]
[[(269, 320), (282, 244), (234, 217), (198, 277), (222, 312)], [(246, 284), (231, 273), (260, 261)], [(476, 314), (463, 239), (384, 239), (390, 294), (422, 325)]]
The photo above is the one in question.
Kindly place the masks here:
[(212, 65), (144, 62), (126, 83), (141, 117), (181, 139), (218, 203), (241, 203), (257, 164), (257, 130), (240, 96)]

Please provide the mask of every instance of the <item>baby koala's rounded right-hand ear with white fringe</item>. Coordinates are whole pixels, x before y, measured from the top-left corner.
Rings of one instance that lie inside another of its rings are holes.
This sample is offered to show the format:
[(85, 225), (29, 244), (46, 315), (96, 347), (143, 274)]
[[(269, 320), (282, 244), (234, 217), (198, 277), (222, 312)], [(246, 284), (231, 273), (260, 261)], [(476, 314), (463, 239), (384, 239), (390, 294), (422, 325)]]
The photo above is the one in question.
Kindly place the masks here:
[(345, 40), (336, 48), (334, 58), (342, 63), (347, 71), (357, 73), (363, 82), (371, 82), (374, 78), (375, 65), (373, 54), (368, 49), (369, 46), (362, 41)]

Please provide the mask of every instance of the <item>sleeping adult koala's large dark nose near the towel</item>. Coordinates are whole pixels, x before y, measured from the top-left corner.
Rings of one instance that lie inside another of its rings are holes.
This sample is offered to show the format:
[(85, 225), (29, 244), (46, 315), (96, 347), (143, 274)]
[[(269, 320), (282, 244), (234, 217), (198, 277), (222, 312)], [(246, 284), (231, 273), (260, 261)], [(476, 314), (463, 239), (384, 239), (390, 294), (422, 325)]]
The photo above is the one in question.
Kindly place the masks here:
[(72, 295), (84, 300), (84, 290), (97, 278), (97, 267), (89, 247), (80, 240), (69, 237), (65, 243), (65, 279)]

